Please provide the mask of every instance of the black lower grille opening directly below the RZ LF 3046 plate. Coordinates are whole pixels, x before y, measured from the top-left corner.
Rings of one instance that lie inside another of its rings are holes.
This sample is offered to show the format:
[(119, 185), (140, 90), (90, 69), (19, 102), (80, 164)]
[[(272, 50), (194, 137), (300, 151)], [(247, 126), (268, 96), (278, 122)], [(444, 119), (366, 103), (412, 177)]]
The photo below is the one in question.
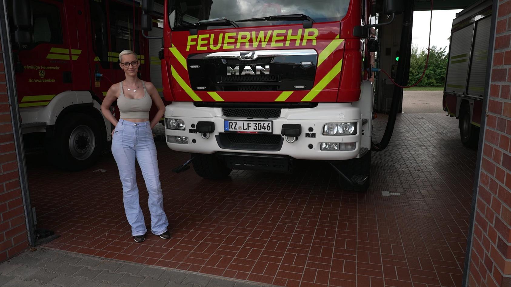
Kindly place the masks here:
[(284, 143), (280, 134), (220, 133), (216, 138), (220, 148), (229, 150), (277, 152)]

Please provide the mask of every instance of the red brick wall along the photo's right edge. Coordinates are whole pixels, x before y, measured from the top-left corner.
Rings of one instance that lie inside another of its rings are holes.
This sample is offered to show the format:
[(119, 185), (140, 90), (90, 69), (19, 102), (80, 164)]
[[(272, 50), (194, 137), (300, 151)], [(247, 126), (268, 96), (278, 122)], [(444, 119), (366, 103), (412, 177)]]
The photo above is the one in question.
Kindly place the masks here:
[(497, 16), (469, 286), (511, 286), (511, 0)]

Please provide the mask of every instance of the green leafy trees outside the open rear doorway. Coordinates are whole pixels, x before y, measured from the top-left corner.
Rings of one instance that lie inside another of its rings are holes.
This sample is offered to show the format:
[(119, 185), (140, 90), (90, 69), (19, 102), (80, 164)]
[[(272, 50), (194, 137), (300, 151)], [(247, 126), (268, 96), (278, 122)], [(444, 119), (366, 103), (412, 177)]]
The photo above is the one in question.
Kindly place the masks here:
[[(428, 69), (422, 81), (417, 84), (419, 87), (441, 87), (444, 86), (447, 71), (448, 55), (446, 52), (447, 47), (438, 48), (432, 46), (429, 53)], [(410, 77), (408, 85), (413, 85), (417, 82), (424, 71), (426, 58), (428, 55), (427, 50), (419, 51), (416, 45), (412, 47), (410, 58)]]

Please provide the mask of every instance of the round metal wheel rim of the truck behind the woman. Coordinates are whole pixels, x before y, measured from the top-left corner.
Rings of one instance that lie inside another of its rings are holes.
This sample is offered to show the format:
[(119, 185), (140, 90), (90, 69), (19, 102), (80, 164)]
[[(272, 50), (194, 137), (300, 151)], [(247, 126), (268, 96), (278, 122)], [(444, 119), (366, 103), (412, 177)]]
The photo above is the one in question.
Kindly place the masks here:
[(85, 160), (90, 157), (96, 147), (96, 137), (88, 126), (76, 127), (69, 136), (69, 151), (78, 160)]

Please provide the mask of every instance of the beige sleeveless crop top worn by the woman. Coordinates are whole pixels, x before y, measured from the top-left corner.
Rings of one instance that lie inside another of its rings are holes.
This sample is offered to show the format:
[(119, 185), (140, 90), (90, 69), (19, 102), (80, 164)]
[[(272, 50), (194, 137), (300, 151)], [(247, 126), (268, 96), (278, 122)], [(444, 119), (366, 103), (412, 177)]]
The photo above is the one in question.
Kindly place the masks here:
[(149, 118), (149, 110), (151, 109), (151, 96), (147, 93), (146, 85), (144, 86), (144, 97), (141, 99), (128, 99), (124, 96), (123, 82), (121, 82), (121, 94), (117, 99), (117, 106), (121, 112), (121, 118)]

